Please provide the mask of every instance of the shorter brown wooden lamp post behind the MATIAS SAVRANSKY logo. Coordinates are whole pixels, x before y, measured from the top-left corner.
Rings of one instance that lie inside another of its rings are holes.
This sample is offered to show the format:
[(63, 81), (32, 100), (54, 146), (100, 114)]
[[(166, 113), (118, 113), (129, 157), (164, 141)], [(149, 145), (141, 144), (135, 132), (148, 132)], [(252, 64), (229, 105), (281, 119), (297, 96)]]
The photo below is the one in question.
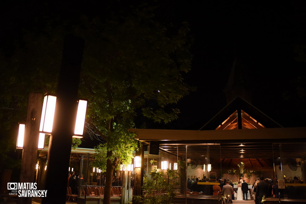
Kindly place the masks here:
[[(24, 143), (21, 159), (20, 183), (35, 182), (35, 164), (39, 138), (39, 124), (42, 111), (42, 94), (30, 93), (28, 115), (24, 131)], [(31, 204), (31, 197), (18, 197), (19, 204)]]

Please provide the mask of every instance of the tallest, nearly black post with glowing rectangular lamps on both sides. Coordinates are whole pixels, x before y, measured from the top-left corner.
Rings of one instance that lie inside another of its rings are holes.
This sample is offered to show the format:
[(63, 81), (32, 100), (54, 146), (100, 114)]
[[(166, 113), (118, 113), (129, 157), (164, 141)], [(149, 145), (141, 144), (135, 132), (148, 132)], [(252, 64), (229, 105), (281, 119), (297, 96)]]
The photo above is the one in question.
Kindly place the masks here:
[(65, 204), (66, 202), (68, 168), (76, 118), (83, 48), (83, 39), (74, 35), (65, 37), (47, 160), (45, 186), (47, 197), (43, 198), (43, 203)]

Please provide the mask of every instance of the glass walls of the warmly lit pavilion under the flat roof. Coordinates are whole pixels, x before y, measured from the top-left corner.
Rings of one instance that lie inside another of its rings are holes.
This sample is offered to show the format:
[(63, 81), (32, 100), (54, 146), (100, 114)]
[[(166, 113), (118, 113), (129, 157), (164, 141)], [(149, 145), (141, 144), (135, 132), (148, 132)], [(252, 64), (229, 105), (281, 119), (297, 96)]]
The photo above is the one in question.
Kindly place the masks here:
[[(143, 174), (144, 180), (150, 180), (151, 172), (162, 173), (167, 183), (175, 183), (173, 192), (177, 197), (182, 196), (186, 202), (194, 196), (201, 196), (199, 197), (201, 199), (218, 197), (213, 195), (212, 186), (220, 179), (230, 180), (236, 193), (238, 182), (244, 180), (249, 187), (248, 199), (254, 199), (252, 186), (261, 176), (268, 179), (267, 183), (270, 186), (267, 192), (268, 198), (278, 198), (280, 193), (281, 199), (303, 201), (306, 199), (305, 151), (306, 143), (160, 144), (158, 155), (150, 155), (148, 151), (144, 151)], [(93, 189), (103, 187), (97, 179), (97, 176), (102, 177), (102, 174), (97, 172), (97, 169), (94, 172), (90, 167), (91, 156), (82, 155), (80, 162), (82, 175), (80, 197), (85, 196), (86, 186)], [(169, 169), (179, 173), (176, 182), (167, 175)], [(114, 176), (123, 177), (128, 183), (127, 186), (133, 187), (134, 171), (118, 170), (114, 172)], [(280, 184), (277, 185), (277, 181)], [(199, 184), (195, 185), (197, 182)], [(146, 193), (145, 189), (143, 191)], [(133, 191), (130, 194), (132, 195)], [(102, 189), (100, 195), (94, 190), (88, 191), (87, 195), (103, 197)], [(116, 196), (120, 197), (121, 193), (114, 193), (114, 197)]]

